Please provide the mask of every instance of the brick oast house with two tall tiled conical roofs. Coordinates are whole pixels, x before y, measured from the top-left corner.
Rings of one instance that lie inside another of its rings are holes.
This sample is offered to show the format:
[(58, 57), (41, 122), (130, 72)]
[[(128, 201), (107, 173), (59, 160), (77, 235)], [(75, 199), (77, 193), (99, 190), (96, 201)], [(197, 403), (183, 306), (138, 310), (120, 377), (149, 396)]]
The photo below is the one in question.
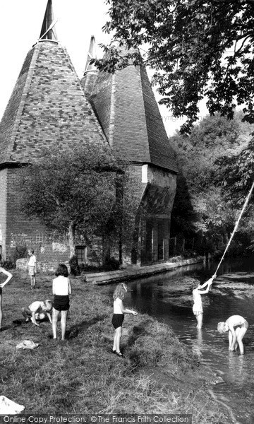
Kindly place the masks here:
[[(80, 81), (57, 41), (53, 21), (49, 0), (40, 40), (25, 58), (0, 124), (1, 253), (11, 257), (16, 247), (32, 245), (40, 261), (68, 259), (65, 235), (50, 233), (39, 220), (20, 213), (20, 165), (40, 158), (44, 146), (54, 143), (61, 143), (64, 150), (109, 143), (128, 158), (137, 208), (143, 204), (146, 211), (142, 223), (134, 225), (133, 249), (123, 252), (123, 260), (141, 264), (165, 260), (177, 170), (145, 68), (98, 73), (89, 64), (95, 54), (92, 38)], [(137, 240), (140, 251), (135, 248)], [(76, 249), (80, 260), (89, 260), (82, 240), (76, 240)], [(90, 246), (89, 252), (98, 249)]]

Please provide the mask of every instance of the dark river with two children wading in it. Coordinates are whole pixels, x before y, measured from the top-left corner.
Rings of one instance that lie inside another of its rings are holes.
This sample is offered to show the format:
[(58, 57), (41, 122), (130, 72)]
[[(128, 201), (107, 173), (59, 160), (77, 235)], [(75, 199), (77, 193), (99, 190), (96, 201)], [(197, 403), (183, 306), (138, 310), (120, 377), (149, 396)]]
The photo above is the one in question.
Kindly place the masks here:
[[(169, 324), (184, 343), (191, 346), (204, 365), (222, 382), (212, 396), (229, 408), (235, 423), (254, 423), (254, 261), (225, 261), (208, 295), (202, 295), (203, 326), (195, 328), (191, 278), (201, 283), (212, 276), (217, 264), (198, 264), (159, 276), (128, 283), (125, 305)], [(111, 295), (115, 285), (107, 286)], [(219, 334), (217, 323), (234, 314), (249, 323), (243, 338), (245, 354), (228, 351), (228, 333)]]

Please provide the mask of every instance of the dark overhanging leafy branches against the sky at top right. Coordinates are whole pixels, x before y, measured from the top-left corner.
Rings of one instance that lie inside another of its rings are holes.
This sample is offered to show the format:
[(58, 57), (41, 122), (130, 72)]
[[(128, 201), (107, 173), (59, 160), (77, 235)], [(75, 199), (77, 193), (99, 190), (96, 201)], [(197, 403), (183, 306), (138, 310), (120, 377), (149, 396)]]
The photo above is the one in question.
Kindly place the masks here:
[[(108, 49), (99, 69), (115, 71), (141, 61), (154, 71), (160, 102), (175, 117), (186, 115), (181, 131), (198, 119), (198, 102), (207, 97), (210, 114), (232, 118), (243, 105), (244, 120), (254, 122), (253, 0), (106, 0), (114, 39), (130, 47), (123, 57)], [(145, 52), (145, 53), (144, 53)]]

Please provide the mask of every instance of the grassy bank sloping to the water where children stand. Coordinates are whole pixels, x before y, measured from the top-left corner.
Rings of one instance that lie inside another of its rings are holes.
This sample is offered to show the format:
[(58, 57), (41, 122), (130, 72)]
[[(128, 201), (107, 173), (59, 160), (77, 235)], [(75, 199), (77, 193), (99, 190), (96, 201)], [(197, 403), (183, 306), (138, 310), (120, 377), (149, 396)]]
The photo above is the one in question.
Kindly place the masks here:
[[(207, 394), (214, 375), (168, 326), (126, 316), (125, 359), (118, 358), (111, 353), (112, 300), (77, 278), (66, 341), (55, 342), (49, 322), (25, 324), (20, 314), (23, 305), (52, 298), (53, 276), (40, 274), (30, 290), (26, 273), (13, 274), (3, 289), (0, 394), (23, 404), (25, 413), (193, 413), (193, 423), (230, 422)], [(40, 346), (16, 349), (25, 339)]]

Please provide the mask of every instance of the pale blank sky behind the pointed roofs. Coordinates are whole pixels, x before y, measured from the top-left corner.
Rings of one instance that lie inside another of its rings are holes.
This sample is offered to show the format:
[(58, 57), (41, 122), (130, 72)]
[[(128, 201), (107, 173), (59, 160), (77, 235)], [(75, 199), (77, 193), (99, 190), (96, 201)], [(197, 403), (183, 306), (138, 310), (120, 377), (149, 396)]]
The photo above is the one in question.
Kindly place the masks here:
[[(97, 45), (110, 42), (111, 36), (102, 31), (107, 21), (107, 6), (104, 0), (52, 0), (52, 4), (54, 18), (58, 20), (55, 28), (59, 43), (66, 47), (81, 78), (91, 35), (95, 36)], [(46, 7), (47, 0), (0, 0), (0, 119), (26, 54), (40, 36)], [(99, 47), (97, 57), (102, 57)], [(156, 93), (155, 96), (159, 99)], [(172, 117), (166, 107), (160, 107), (160, 112), (167, 134), (173, 135), (184, 120)]]

